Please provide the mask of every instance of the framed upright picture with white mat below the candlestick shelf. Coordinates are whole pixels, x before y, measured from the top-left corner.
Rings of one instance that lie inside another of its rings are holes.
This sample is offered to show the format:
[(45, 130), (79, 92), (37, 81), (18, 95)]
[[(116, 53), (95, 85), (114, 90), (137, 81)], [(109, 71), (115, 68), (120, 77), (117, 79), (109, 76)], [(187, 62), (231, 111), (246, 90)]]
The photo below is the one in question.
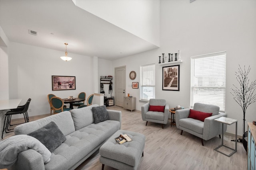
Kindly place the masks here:
[(180, 91), (180, 65), (163, 67), (163, 90)]

